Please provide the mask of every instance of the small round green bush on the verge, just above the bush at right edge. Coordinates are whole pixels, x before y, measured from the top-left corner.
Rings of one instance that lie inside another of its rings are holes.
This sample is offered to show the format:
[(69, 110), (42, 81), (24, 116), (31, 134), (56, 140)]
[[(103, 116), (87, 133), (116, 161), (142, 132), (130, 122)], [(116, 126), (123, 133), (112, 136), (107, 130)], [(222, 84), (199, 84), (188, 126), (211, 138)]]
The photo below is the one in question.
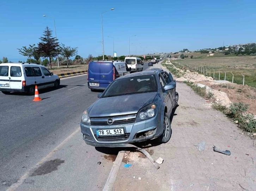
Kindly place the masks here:
[(240, 121), (245, 112), (248, 110), (248, 104), (239, 103), (231, 103), (230, 104), (230, 117), (235, 120)]

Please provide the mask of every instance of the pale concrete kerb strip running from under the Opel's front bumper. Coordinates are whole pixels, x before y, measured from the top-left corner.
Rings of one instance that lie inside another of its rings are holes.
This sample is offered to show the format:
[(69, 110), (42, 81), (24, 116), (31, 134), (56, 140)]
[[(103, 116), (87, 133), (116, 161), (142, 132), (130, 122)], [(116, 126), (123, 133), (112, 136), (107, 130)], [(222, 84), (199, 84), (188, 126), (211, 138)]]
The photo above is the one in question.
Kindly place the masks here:
[(115, 180), (116, 180), (116, 176), (117, 176), (119, 167), (123, 160), (123, 156), (124, 156), (124, 151), (119, 151), (102, 191), (111, 191), (112, 190)]

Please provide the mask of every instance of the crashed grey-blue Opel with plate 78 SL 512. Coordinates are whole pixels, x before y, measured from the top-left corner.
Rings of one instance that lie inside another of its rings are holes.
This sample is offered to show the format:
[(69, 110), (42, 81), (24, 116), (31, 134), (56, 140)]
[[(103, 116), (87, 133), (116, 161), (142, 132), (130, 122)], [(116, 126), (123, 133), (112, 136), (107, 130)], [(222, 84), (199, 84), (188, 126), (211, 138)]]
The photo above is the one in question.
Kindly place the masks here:
[(178, 103), (170, 73), (155, 69), (128, 74), (114, 80), (98, 97), (81, 119), (86, 144), (117, 147), (154, 138), (169, 141), (170, 116)]

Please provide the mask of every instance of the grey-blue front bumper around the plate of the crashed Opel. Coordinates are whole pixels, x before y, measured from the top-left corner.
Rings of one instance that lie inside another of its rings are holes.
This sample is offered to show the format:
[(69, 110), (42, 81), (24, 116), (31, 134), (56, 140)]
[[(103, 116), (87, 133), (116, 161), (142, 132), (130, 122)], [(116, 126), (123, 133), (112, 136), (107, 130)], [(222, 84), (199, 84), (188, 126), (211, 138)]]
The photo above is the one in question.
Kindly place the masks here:
[[(140, 121), (137, 123), (129, 123), (129, 124), (120, 124), (120, 125), (104, 125), (104, 126), (96, 126), (96, 125), (84, 125), (80, 123), (81, 133), (84, 134), (83, 139), (88, 145), (92, 146), (103, 146), (103, 147), (122, 147), (127, 143), (136, 143), (140, 141), (154, 139), (159, 137), (163, 133), (163, 123), (161, 123), (161, 114), (157, 113), (155, 117), (152, 119), (148, 119), (145, 121)], [(115, 140), (104, 140), (111, 139), (112, 137), (98, 137), (96, 135), (96, 130), (102, 129), (120, 129), (124, 128), (124, 136), (115, 136)], [(137, 133), (143, 133), (149, 130), (156, 130), (151, 136), (135, 138)]]

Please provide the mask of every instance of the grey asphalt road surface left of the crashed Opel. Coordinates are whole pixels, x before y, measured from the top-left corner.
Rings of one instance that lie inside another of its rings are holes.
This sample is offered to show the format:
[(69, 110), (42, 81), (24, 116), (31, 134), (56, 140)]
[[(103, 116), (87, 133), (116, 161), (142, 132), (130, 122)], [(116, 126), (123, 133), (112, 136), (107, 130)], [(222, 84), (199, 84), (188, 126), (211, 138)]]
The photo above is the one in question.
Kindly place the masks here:
[[(145, 63), (144, 70), (147, 68), (148, 64)], [(63, 170), (62, 182), (56, 180), (57, 185), (66, 186), (64, 190), (69, 186), (70, 190), (81, 186), (85, 186), (85, 190), (98, 190), (104, 186), (112, 167), (112, 155), (109, 152), (116, 151), (96, 150), (95, 147), (87, 146), (79, 131), (81, 114), (98, 99), (97, 94), (87, 87), (87, 75), (63, 78), (57, 90), (39, 90), (42, 99), (39, 102), (33, 102), (33, 96), (21, 93), (5, 95), (0, 92), (0, 190), (17, 183), (40, 161), (51, 161), (52, 164), (46, 164), (43, 170), (36, 169), (32, 177), (42, 174), (51, 176), (58, 166), (64, 166), (60, 169)], [(84, 174), (77, 172), (79, 169)], [(70, 174), (76, 180), (74, 184), (65, 179), (69, 179)], [(37, 181), (39, 185), (42, 183), (43, 188), (40, 186), (37, 189), (55, 189), (57, 185), (52, 182), (47, 185), (44, 178)], [(79, 182), (84, 185), (76, 187)], [(30, 190), (35, 180), (27, 178), (24, 183), (21, 190)]]

